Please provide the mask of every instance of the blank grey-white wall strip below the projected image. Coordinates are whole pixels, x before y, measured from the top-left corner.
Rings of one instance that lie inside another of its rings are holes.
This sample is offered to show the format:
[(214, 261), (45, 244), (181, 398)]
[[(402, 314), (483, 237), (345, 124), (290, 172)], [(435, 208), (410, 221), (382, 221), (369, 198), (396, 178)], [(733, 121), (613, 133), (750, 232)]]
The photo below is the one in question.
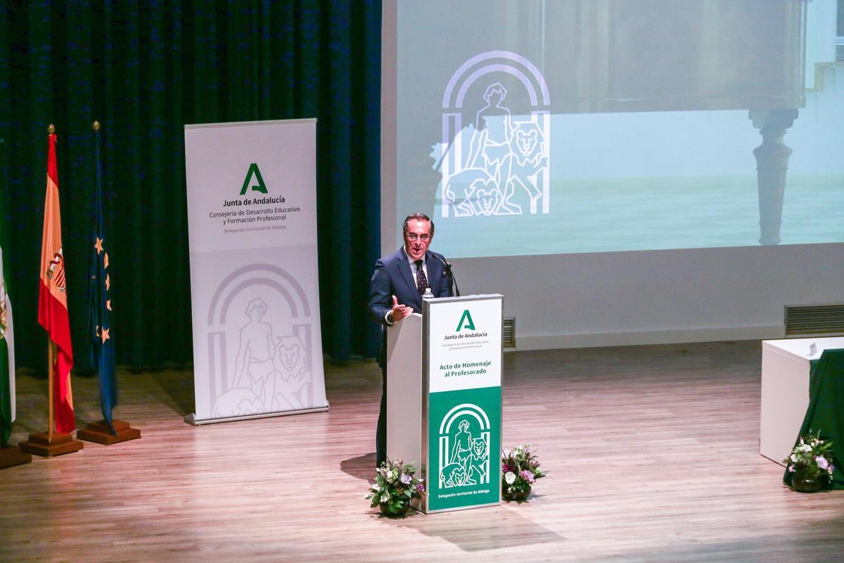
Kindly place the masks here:
[(844, 302), (842, 244), (468, 258), (454, 272), (464, 295), (505, 295), (517, 349), (782, 338), (784, 306)]

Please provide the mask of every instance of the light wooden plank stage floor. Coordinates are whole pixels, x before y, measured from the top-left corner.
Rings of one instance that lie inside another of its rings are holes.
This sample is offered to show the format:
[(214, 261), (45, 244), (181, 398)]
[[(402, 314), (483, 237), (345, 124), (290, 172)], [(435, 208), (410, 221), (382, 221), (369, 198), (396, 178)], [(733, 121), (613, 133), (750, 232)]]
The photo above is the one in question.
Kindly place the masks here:
[[(143, 438), (0, 471), (0, 561), (834, 561), (844, 491), (801, 495), (759, 454), (760, 343), (515, 352), (504, 444), (529, 501), (402, 520), (364, 500), (380, 372), (327, 365), (331, 411), (192, 427), (192, 373), (121, 374)], [(97, 384), (75, 377), (77, 423)], [(46, 430), (18, 377), (13, 443)], [(840, 460), (844, 463), (844, 460)]]

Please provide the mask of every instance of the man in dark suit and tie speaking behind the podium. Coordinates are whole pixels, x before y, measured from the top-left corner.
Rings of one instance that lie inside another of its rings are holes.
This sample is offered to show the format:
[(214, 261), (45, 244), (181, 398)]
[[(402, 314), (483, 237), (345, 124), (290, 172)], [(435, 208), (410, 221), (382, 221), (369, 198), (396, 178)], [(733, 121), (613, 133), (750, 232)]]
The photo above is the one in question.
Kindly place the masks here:
[(370, 286), (370, 316), (381, 323), (381, 366), (383, 386), (381, 412), (376, 430), (376, 463), (387, 460), (387, 327), (412, 313), (422, 312), (422, 295), (430, 287), (435, 297), (452, 295), (446, 273), (446, 259), (430, 252), (434, 222), (425, 214), (411, 214), (402, 226), (404, 245), (375, 264)]

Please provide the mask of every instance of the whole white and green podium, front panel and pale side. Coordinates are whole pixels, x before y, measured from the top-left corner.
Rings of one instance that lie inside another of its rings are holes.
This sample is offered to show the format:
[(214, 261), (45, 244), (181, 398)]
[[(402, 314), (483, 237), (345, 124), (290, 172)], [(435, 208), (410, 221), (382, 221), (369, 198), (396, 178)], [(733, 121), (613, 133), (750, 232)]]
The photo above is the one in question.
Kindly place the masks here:
[(502, 299), (425, 300), (387, 331), (387, 457), (420, 468), (422, 512), (500, 502)]

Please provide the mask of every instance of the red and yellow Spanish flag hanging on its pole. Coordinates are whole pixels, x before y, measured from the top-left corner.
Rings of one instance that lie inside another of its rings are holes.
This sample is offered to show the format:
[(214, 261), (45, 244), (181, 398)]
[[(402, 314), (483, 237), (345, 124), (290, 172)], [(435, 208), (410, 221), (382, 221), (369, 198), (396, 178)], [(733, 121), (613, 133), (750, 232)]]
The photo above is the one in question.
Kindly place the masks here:
[(38, 322), (56, 344), (53, 365), (53, 403), (56, 409), (56, 430), (73, 431), (73, 393), (70, 390), (70, 368), (73, 349), (70, 345), (68, 295), (62, 254), (62, 214), (58, 202), (58, 170), (56, 165), (56, 133), (48, 135), (47, 195), (44, 202), (44, 231), (41, 238), (41, 283), (38, 291)]

